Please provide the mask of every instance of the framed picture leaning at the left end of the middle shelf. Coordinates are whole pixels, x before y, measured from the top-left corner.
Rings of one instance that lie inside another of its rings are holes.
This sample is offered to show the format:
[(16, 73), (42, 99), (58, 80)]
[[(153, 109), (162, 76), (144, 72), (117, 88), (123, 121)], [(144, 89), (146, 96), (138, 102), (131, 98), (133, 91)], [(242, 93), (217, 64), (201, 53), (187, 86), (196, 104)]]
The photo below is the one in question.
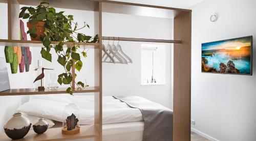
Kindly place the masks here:
[(6, 60), (0, 57), (0, 92), (10, 89)]

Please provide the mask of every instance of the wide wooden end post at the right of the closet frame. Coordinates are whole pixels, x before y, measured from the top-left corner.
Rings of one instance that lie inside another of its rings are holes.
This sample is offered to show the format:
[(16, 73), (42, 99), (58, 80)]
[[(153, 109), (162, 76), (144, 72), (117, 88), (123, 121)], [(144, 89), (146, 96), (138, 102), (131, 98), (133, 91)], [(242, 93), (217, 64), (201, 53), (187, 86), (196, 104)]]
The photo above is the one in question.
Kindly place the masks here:
[(174, 141), (190, 141), (191, 12), (174, 18)]

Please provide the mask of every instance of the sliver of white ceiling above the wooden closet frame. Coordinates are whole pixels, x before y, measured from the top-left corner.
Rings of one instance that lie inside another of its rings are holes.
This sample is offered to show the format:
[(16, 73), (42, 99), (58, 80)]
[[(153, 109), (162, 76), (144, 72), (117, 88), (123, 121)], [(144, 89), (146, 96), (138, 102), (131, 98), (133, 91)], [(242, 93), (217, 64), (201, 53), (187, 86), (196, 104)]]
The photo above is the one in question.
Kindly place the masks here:
[(119, 2), (189, 9), (203, 0), (115, 0)]

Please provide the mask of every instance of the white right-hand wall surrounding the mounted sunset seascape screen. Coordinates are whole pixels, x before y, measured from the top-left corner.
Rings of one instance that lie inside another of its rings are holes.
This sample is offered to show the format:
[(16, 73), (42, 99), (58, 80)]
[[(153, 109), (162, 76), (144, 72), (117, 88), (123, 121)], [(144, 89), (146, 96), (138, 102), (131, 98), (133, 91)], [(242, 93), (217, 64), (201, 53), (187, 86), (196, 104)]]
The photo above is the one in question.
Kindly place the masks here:
[[(206, 0), (191, 8), (192, 127), (219, 140), (256, 139), (256, 61), (254, 57), (253, 76), (201, 73), (201, 43), (248, 35), (255, 42), (255, 6), (254, 0)], [(215, 12), (218, 20), (210, 22)]]

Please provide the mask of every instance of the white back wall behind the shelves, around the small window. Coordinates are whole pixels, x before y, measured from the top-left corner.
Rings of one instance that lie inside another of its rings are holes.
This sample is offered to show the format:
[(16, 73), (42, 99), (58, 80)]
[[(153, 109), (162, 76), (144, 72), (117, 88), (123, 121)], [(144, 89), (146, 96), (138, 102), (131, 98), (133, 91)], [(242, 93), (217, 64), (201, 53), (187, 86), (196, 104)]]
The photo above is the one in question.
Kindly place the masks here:
[[(60, 9), (57, 9), (60, 11)], [(82, 30), (80, 32), (94, 35), (94, 15), (90, 11), (80, 10), (61, 10), (66, 14), (74, 15), (74, 19), (83, 24), (88, 22), (91, 29)], [(85, 16), (86, 15), (86, 16)], [(3, 27), (0, 31), (0, 38), (7, 39), (7, 5), (0, 4), (0, 16), (5, 20), (0, 22)], [(25, 30), (26, 21), (25, 21)], [(156, 38), (156, 39), (172, 39), (173, 20), (164, 18), (151, 18), (142, 16), (131, 16), (121, 14), (103, 13), (103, 35), (104, 36), (120, 36), (120, 37), (138, 37), (138, 38)], [(29, 38), (29, 36), (28, 36)], [(107, 41), (104, 41), (106, 43)], [(112, 42), (112, 41), (111, 41)], [(116, 42), (117, 43), (117, 42)], [(166, 107), (172, 108), (173, 92), (170, 88), (170, 44), (166, 44), (166, 84), (161, 86), (141, 86), (140, 85), (140, 45), (142, 42), (125, 42), (120, 41), (123, 51), (129, 55), (133, 64), (103, 64), (103, 95), (105, 96), (126, 96), (136, 95), (158, 102)], [(30, 48), (32, 51), (32, 64), (30, 72), (11, 74), (10, 65), (8, 66), (9, 79), (11, 88), (31, 88), (33, 87), (33, 67), (37, 65), (37, 60), (43, 60), (42, 64), (47, 68), (54, 68), (57, 74), (63, 72), (63, 68), (57, 63), (57, 56), (53, 56), (53, 62), (41, 59), (39, 48)], [(54, 53), (54, 51), (52, 51)], [(91, 55), (90, 55), (91, 54)], [(83, 60), (83, 69), (78, 74), (78, 79), (87, 79), (90, 86), (94, 84), (94, 50), (88, 53), (88, 58)], [(4, 46), (0, 48), (0, 57), (5, 57)], [(19, 71), (19, 70), (18, 70)], [(80, 76), (80, 78), (79, 78)], [(0, 127), (16, 112), (20, 104), (26, 102), (27, 96), (0, 97)], [(3, 129), (0, 128), (0, 131)]]

